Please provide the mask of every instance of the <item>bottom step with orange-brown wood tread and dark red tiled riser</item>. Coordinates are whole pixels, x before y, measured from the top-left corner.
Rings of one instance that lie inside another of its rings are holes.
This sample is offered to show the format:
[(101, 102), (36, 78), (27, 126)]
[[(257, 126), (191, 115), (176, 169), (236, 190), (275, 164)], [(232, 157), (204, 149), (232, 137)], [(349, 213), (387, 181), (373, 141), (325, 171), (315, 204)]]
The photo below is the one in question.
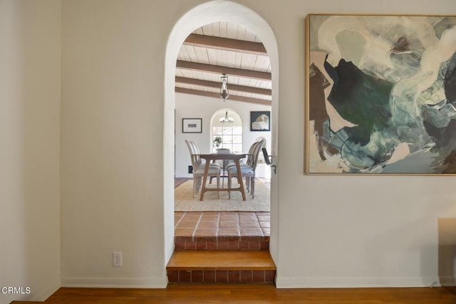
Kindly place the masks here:
[(167, 265), (170, 283), (274, 283), (269, 251), (175, 251)]

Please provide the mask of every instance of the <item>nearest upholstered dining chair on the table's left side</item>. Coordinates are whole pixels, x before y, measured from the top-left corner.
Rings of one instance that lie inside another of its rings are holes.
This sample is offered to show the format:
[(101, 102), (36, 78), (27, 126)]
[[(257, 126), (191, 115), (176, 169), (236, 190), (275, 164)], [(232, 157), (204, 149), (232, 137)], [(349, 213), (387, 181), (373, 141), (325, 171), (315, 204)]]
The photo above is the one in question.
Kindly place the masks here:
[[(204, 177), (204, 166), (202, 164), (201, 158), (198, 156), (200, 154), (199, 148), (190, 140), (185, 140), (187, 144), (188, 150), (190, 152), (190, 159), (192, 160), (192, 167), (193, 167), (193, 198), (195, 198), (196, 194), (199, 192), (201, 188), (202, 182), (206, 182), (202, 180)], [(220, 186), (220, 171), (221, 168), (218, 164), (209, 164), (209, 172), (207, 174), (208, 177), (216, 177), (217, 178), (217, 188)], [(217, 192), (219, 197), (219, 192)]]

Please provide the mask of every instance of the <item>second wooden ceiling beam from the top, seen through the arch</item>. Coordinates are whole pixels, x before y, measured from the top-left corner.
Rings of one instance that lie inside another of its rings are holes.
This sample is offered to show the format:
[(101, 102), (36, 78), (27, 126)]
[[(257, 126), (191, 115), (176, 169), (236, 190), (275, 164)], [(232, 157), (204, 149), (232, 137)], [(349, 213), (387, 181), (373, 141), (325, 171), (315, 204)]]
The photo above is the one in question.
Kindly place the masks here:
[(176, 68), (183, 68), (186, 70), (202, 70), (204, 72), (227, 74), (231, 76), (239, 76), (245, 78), (271, 80), (271, 73), (260, 72), (257, 70), (244, 70), (242, 68), (228, 68), (221, 65), (212, 65), (206, 63), (194, 63), (190, 61), (177, 61)]

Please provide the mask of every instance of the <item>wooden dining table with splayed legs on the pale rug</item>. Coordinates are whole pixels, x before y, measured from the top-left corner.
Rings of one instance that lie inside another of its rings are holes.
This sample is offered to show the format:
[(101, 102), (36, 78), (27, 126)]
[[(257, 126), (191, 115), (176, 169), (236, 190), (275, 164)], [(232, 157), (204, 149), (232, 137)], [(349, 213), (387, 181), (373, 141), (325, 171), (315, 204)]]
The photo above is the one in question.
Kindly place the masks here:
[[(204, 164), (204, 177), (201, 187), (201, 194), (199, 194), (199, 200), (202, 201), (204, 198), (204, 193), (206, 192), (221, 192), (221, 191), (239, 191), (242, 194), (242, 200), (245, 201), (245, 190), (244, 190), (244, 182), (242, 182), (242, 172), (241, 172), (241, 165), (239, 160), (243, 159), (250, 155), (249, 153), (208, 153), (208, 154), (198, 154), (198, 156), (206, 161)], [(209, 172), (209, 164), (214, 160), (223, 160), (223, 161), (233, 161), (236, 164), (237, 168), (237, 180), (239, 183), (239, 187), (237, 188), (207, 188), (207, 174)]]

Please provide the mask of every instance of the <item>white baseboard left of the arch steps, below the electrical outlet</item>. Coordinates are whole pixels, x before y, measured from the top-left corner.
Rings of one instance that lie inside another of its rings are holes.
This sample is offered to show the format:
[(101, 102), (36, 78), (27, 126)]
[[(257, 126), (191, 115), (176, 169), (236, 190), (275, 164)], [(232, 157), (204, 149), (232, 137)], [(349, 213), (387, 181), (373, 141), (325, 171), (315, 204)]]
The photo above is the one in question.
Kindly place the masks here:
[(83, 278), (65, 277), (61, 279), (62, 287), (79, 288), (166, 288), (164, 278)]

